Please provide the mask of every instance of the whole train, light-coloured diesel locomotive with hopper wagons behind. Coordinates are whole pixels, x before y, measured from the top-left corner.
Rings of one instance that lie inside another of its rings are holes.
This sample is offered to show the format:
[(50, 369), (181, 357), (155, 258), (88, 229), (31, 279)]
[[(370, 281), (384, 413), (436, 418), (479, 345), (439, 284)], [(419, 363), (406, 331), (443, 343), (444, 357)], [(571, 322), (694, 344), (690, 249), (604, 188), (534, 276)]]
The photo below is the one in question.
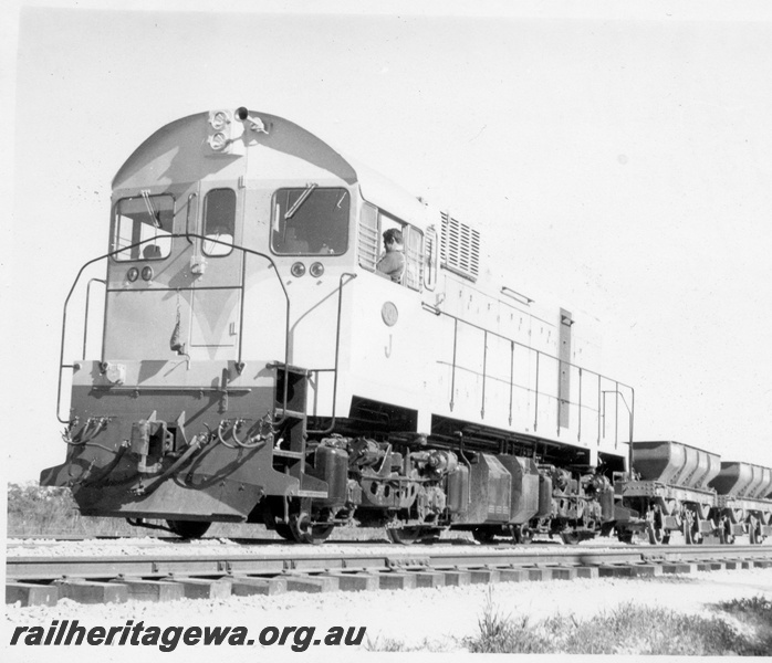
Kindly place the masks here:
[(184, 537), (762, 540), (772, 472), (634, 442), (635, 393), (601, 372), (593, 318), (498, 282), (481, 241), (286, 119), (173, 122), (115, 176), (109, 250), (65, 302), (67, 453), (41, 484)]

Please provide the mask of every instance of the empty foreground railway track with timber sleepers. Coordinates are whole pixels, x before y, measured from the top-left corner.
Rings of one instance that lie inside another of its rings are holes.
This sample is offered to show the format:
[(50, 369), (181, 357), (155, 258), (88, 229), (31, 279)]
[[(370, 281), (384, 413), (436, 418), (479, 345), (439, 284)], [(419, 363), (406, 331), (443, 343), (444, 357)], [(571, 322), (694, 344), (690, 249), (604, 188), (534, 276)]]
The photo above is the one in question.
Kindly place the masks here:
[(291, 555), (263, 548), (243, 554), (166, 549), (163, 555), (9, 556), (6, 602), (222, 599), (772, 567), (772, 547), (766, 546), (362, 548), (296, 547)]

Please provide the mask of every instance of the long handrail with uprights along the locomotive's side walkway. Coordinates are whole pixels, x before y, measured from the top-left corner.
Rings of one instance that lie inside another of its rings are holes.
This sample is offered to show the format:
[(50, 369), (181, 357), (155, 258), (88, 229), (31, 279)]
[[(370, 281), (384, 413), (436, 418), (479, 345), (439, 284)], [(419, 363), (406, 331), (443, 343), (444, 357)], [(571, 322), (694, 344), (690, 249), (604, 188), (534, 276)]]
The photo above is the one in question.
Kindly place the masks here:
[[(447, 316), (447, 317), (449, 317), (450, 319), (453, 320), (453, 358), (452, 358), (452, 364), (451, 364), (451, 377), (450, 377), (451, 388), (450, 388), (450, 403), (449, 403), (449, 407), (450, 407), (450, 411), (451, 411), (451, 412), (452, 412), (452, 410), (453, 410), (455, 397), (456, 397), (456, 368), (457, 368), (457, 367), (456, 367), (456, 361), (457, 361), (457, 345), (458, 345), (458, 324), (459, 324), (459, 323), (463, 323), (463, 324), (467, 325), (468, 327), (471, 327), (471, 328), (473, 328), (473, 329), (477, 329), (477, 330), (483, 333), (483, 343), (486, 344), (486, 350), (487, 350), (488, 336), (489, 336), (489, 335), (495, 336), (497, 338), (500, 338), (501, 340), (505, 340), (505, 341), (509, 341), (509, 343), (510, 343), (510, 352), (511, 352), (511, 366), (510, 366), (510, 413), (509, 413), (509, 415), (510, 415), (510, 424), (511, 424), (511, 421), (512, 421), (512, 410), (511, 410), (511, 407), (512, 407), (512, 393), (511, 393), (511, 392), (512, 392), (512, 388), (513, 388), (514, 346), (517, 345), (517, 346), (519, 346), (519, 347), (525, 348), (529, 352), (535, 352), (535, 356), (536, 356), (536, 370), (535, 370), (535, 381), (536, 381), (536, 383), (535, 383), (534, 422), (533, 422), (533, 430), (534, 430), (534, 432), (538, 430), (538, 425), (539, 425), (539, 396), (540, 396), (540, 391), (539, 391), (539, 378), (540, 378), (540, 362), (541, 362), (541, 357), (543, 356), (543, 357), (545, 357), (545, 358), (547, 358), (547, 359), (552, 359), (553, 361), (559, 362), (559, 365), (567, 366), (570, 369), (572, 369), (572, 368), (577, 369), (577, 370), (580, 371), (580, 385), (581, 385), (581, 377), (582, 377), (582, 375), (583, 375), (584, 372), (587, 372), (587, 373), (590, 373), (590, 375), (597, 376), (597, 378), (598, 378), (598, 399), (597, 399), (597, 400), (598, 400), (598, 402), (597, 402), (597, 419), (598, 419), (598, 438), (597, 438), (597, 442), (598, 442), (598, 444), (601, 443), (601, 439), (602, 439), (602, 434), (601, 434), (601, 400), (602, 400), (601, 397), (602, 397), (602, 380), (607, 380), (607, 381), (614, 382), (614, 385), (616, 386), (616, 391), (619, 393), (619, 396), (623, 396), (622, 392), (619, 391), (619, 388), (620, 388), (620, 387), (622, 387), (622, 388), (625, 388), (625, 389), (628, 389), (628, 390), (630, 391), (630, 394), (632, 394), (633, 407), (628, 407), (626, 401), (625, 401), (625, 407), (627, 407), (628, 419), (629, 419), (629, 442), (633, 441), (635, 390), (634, 390), (633, 387), (630, 387), (629, 385), (626, 385), (625, 382), (620, 382), (620, 381), (618, 381), (618, 380), (614, 380), (614, 379), (612, 379), (612, 378), (609, 378), (609, 377), (607, 377), (607, 376), (604, 376), (604, 375), (602, 375), (602, 373), (599, 373), (599, 372), (597, 372), (597, 371), (595, 371), (595, 370), (593, 370), (593, 369), (586, 368), (586, 367), (584, 367), (584, 366), (580, 366), (578, 364), (574, 364), (574, 362), (572, 362), (572, 361), (566, 361), (565, 359), (561, 359), (560, 357), (556, 357), (556, 356), (554, 356), (554, 355), (550, 355), (549, 352), (544, 352), (543, 350), (540, 350), (540, 349), (538, 349), (538, 348), (533, 348), (533, 347), (531, 347), (531, 346), (529, 346), (529, 345), (526, 345), (526, 344), (524, 344), (524, 343), (521, 343), (521, 341), (519, 341), (519, 340), (515, 340), (515, 339), (513, 339), (513, 338), (510, 338), (509, 336), (504, 336), (503, 334), (499, 334), (498, 332), (493, 332), (493, 330), (491, 330), (491, 329), (487, 329), (486, 327), (481, 327), (480, 325), (477, 325), (477, 324), (474, 324), (474, 323), (471, 323), (471, 322), (469, 322), (469, 320), (466, 320), (466, 319), (463, 319), (463, 318), (460, 318), (460, 317), (458, 317), (458, 316), (456, 316), (456, 315), (452, 315), (452, 314), (450, 314), (450, 313), (447, 313), (447, 312), (445, 312), (445, 311), (438, 308), (437, 306), (432, 306), (432, 305), (430, 305), (430, 304), (422, 303), (422, 307), (424, 307), (425, 311), (427, 311), (428, 313), (431, 313), (432, 315), (437, 315), (437, 316), (444, 315), (444, 316)], [(484, 362), (484, 360), (483, 360), (483, 362)], [(483, 399), (484, 399), (484, 383), (486, 383), (486, 378), (487, 378), (487, 375), (486, 375), (486, 369), (484, 369), (484, 367), (483, 367)], [(549, 394), (545, 394), (545, 396), (549, 396)], [(580, 389), (580, 399), (581, 399), (581, 397), (582, 397), (582, 392), (581, 392), (581, 389)], [(559, 400), (560, 400), (560, 398), (559, 398)], [(576, 403), (573, 403), (573, 401), (572, 401), (570, 398), (568, 398), (568, 399), (565, 399), (565, 400), (566, 400), (566, 404), (567, 404), (567, 406), (576, 404)], [(624, 396), (623, 396), (623, 400), (624, 400)], [(483, 408), (484, 408), (484, 400), (483, 400)], [(483, 410), (483, 411), (484, 411), (484, 410)], [(580, 413), (581, 413), (581, 409), (580, 409)], [(617, 414), (617, 419), (616, 419), (616, 427), (617, 427), (617, 429), (618, 429), (618, 414)], [(615, 449), (616, 449), (616, 445), (618, 444), (618, 430), (616, 431), (616, 436), (617, 436), (617, 439), (615, 440)], [(578, 439), (581, 440), (581, 429), (580, 429), (580, 438), (578, 438)]]

